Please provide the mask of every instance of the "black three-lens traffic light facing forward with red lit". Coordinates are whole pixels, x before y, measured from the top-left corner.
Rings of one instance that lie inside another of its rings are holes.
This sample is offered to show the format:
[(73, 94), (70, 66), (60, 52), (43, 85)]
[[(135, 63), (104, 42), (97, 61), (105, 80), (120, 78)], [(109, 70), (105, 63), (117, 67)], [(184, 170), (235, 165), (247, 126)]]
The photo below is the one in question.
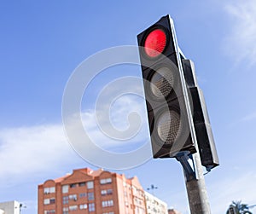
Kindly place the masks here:
[(181, 53), (169, 15), (137, 35), (154, 158), (195, 153)]

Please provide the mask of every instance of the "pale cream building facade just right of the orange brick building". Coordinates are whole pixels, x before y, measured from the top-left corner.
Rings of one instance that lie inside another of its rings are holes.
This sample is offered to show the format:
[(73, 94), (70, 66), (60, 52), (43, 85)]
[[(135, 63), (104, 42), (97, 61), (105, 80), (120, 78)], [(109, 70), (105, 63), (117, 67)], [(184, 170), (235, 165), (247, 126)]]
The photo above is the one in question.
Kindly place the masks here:
[(166, 202), (156, 198), (153, 194), (145, 193), (147, 214), (168, 214)]

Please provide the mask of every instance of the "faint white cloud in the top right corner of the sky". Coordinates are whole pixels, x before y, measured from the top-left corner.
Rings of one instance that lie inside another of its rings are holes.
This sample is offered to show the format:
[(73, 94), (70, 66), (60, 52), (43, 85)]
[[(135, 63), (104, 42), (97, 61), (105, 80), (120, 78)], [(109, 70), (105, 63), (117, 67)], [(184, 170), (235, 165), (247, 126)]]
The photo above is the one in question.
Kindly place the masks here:
[(251, 67), (256, 63), (256, 3), (253, 0), (234, 1), (224, 9), (233, 22), (224, 38), (224, 48), (237, 64), (243, 61)]

